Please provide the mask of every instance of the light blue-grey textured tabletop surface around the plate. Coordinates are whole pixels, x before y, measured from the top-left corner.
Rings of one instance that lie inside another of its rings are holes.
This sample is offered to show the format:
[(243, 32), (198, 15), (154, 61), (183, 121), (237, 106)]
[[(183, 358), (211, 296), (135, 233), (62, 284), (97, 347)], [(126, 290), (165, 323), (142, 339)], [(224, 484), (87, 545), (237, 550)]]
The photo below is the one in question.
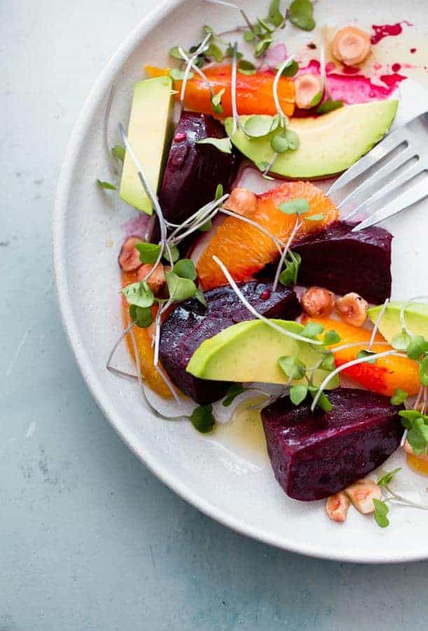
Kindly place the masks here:
[(0, 631), (426, 627), (427, 563), (308, 559), (212, 522), (128, 452), (74, 365), (55, 182), (90, 86), (155, 4), (0, 6)]

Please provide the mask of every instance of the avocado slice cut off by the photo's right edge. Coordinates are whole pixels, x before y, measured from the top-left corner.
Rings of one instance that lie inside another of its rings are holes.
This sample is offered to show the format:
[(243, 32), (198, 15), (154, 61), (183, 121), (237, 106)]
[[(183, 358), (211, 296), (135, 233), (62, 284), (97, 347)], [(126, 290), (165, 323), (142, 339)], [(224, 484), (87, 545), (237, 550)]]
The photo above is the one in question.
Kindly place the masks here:
[[(401, 333), (400, 311), (402, 302), (390, 302), (380, 320), (379, 331), (389, 344), (392, 339)], [(368, 317), (373, 323), (378, 318), (382, 305), (368, 309)], [(414, 302), (406, 307), (406, 326), (413, 335), (422, 335), (428, 339), (428, 305), (422, 302)]]

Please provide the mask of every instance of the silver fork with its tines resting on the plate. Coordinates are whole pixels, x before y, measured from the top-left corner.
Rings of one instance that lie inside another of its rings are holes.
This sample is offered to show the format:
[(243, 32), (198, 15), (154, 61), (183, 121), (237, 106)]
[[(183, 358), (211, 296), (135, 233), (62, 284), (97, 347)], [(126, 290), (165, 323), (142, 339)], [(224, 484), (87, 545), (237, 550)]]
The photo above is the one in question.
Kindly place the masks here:
[[(428, 196), (428, 111), (389, 134), (352, 165), (327, 194), (357, 232)], [(368, 215), (368, 216), (366, 216)]]

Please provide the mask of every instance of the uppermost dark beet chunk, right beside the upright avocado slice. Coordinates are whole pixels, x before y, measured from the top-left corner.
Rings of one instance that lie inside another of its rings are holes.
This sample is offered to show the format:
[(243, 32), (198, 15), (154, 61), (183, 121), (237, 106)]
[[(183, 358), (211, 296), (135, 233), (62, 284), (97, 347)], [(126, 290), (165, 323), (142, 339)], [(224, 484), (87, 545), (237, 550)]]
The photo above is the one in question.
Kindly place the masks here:
[(223, 125), (212, 116), (184, 111), (167, 159), (159, 201), (165, 219), (180, 224), (214, 199), (217, 184), (227, 192), (235, 178), (237, 156), (224, 154), (203, 138), (223, 138)]

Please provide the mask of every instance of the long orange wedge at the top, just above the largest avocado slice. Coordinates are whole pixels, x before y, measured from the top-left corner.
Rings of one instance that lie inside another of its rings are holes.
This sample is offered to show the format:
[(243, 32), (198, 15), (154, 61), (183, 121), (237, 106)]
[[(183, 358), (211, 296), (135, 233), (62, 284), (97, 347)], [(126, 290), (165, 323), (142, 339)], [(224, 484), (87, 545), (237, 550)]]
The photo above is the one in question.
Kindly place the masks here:
[[(150, 76), (161, 76), (169, 73), (168, 68), (145, 67), (146, 73)], [(223, 107), (222, 117), (232, 116), (232, 102), (230, 98), (230, 84), (232, 79), (231, 66), (222, 64), (204, 69), (204, 74), (212, 85), (214, 94), (220, 90), (226, 90), (221, 98)], [(258, 71), (256, 74), (247, 76), (237, 73), (236, 80), (236, 100), (237, 110), (240, 114), (270, 114), (277, 113), (273, 100), (273, 81), (275, 74), (268, 71)], [(181, 81), (174, 81), (174, 90), (181, 90)], [(179, 99), (179, 93), (175, 95)], [(294, 81), (281, 77), (278, 83), (279, 104), (284, 114), (291, 116), (294, 112)], [(194, 74), (186, 84), (186, 94), (184, 105), (187, 109), (200, 111), (202, 114), (213, 114), (211, 94), (205, 81)]]

